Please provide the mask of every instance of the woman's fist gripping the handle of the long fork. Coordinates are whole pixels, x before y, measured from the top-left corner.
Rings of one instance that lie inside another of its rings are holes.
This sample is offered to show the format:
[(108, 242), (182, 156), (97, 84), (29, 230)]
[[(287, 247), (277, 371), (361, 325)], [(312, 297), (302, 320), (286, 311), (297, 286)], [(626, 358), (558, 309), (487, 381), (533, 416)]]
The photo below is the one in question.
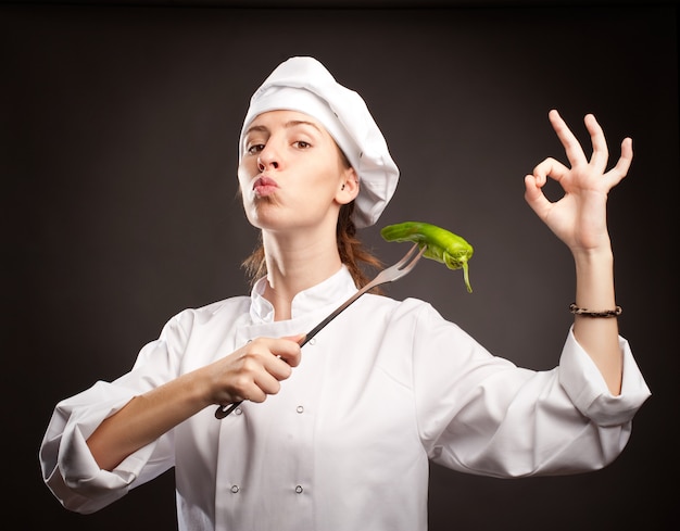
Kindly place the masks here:
[(256, 338), (234, 353), (205, 366), (211, 404), (239, 401), (264, 402), (279, 392), (281, 380), (300, 364), (304, 334), (287, 338)]

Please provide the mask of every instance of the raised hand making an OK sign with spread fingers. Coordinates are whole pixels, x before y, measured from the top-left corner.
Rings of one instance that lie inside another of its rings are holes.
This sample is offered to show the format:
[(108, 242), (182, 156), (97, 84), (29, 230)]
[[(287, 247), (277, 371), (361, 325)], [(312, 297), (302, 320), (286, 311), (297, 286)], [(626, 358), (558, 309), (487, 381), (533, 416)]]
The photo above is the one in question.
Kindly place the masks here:
[[(584, 118), (590, 134), (593, 154), (590, 161), (579, 141), (557, 111), (549, 114), (571, 167), (555, 159), (541, 162), (531, 175), (525, 177), (525, 199), (550, 229), (564, 241), (572, 253), (592, 252), (610, 248), (606, 223), (607, 194), (628, 173), (632, 161), (632, 140), (621, 142), (621, 156), (606, 172), (608, 161), (607, 142), (600, 124), (592, 114)], [(564, 195), (551, 202), (542, 188), (547, 178), (559, 182)]]

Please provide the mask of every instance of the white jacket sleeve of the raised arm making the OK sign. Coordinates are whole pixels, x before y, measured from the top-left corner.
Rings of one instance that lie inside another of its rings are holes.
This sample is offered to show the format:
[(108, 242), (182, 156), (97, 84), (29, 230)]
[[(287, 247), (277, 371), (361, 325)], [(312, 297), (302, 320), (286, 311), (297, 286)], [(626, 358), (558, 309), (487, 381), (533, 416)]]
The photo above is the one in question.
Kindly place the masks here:
[(559, 365), (544, 371), (490, 354), (429, 305), (411, 341), (423, 444), (433, 462), (459, 471), (509, 478), (602, 468), (621, 453), (650, 396), (622, 338), (618, 396), (571, 330)]

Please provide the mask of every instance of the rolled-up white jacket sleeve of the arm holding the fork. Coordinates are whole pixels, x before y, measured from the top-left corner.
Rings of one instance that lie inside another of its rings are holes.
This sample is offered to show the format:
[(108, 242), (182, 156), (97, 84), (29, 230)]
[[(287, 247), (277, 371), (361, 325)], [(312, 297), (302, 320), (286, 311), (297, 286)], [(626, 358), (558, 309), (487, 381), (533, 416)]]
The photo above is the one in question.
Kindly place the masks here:
[(187, 337), (182, 320), (186, 325), (187, 316), (168, 321), (160, 338), (140, 351), (129, 372), (113, 382), (98, 381), (54, 408), (39, 459), (46, 484), (67, 509), (99, 510), (174, 466), (173, 431), (133, 453), (112, 471), (99, 468), (86, 441), (134, 396), (177, 376)]

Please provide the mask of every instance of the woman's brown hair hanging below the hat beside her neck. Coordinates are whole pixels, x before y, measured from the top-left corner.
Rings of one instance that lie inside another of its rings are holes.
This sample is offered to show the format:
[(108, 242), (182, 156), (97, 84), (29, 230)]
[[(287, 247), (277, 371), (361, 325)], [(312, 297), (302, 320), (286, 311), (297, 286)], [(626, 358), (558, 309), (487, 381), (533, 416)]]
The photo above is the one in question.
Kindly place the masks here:
[[(378, 269), (382, 267), (382, 262), (380, 262), (377, 256), (372, 254), (356, 236), (356, 227), (352, 220), (353, 212), (354, 201), (343, 204), (340, 207), (338, 226), (336, 229), (336, 242), (338, 244), (340, 260), (350, 270), (350, 274), (354, 279), (354, 283), (356, 283), (358, 288), (363, 288), (372, 279), (372, 277), (366, 274), (364, 268), (368, 266), (369, 268)], [(260, 244), (241, 265), (248, 273), (251, 285), (255, 283), (267, 274), (264, 246), (262, 245), (262, 232), (260, 233)], [(376, 293), (381, 292), (379, 289), (373, 291)]]

